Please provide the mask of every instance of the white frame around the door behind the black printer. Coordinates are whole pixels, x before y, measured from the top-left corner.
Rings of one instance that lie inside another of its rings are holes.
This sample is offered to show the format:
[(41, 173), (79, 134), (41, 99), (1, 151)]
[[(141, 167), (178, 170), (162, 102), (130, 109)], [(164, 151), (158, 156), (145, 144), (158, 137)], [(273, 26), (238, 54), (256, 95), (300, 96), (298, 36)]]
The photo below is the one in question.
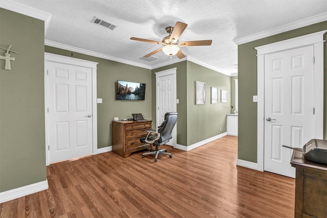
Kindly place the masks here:
[(257, 51), (257, 170), (264, 171), (264, 126), (265, 126), (265, 55), (313, 45), (314, 49), (314, 138), (323, 138), (323, 35), (320, 31), (284, 41), (254, 47)]

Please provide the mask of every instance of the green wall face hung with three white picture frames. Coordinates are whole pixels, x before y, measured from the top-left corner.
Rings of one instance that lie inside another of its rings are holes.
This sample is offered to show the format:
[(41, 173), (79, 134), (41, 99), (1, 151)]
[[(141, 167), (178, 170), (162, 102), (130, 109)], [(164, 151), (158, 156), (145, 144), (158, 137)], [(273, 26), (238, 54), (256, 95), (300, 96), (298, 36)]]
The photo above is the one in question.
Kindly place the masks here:
[[(204, 105), (195, 104), (195, 81), (205, 83)], [(218, 104), (211, 104), (211, 86), (218, 87)], [(226, 132), (226, 114), (230, 113), (231, 105), (230, 77), (188, 61), (187, 87), (187, 145)], [(220, 102), (221, 90), (227, 90), (228, 103)]]

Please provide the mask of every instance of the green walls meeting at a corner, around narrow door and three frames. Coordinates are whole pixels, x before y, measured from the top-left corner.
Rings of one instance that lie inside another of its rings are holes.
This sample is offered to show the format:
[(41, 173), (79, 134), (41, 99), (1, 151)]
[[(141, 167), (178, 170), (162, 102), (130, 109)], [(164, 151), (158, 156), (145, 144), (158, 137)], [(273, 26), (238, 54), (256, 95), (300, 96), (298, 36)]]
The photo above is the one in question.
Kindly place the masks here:
[[(155, 93), (155, 72), (176, 67), (177, 80), (177, 144), (190, 146), (226, 132), (226, 114), (230, 113), (230, 77), (191, 61), (182, 61), (152, 70), (152, 91)], [(195, 104), (195, 81), (206, 84), (205, 105)], [(228, 103), (211, 104), (211, 86), (228, 91)], [(155, 94), (152, 97), (155, 119)], [(221, 131), (220, 131), (221, 127)]]

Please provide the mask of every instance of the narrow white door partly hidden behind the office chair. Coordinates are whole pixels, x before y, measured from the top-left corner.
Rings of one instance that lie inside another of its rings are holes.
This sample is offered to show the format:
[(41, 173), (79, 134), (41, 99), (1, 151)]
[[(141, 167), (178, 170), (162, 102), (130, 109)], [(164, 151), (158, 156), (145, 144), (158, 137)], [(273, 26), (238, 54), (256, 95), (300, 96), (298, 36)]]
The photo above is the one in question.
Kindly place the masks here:
[[(174, 73), (175, 72), (175, 73)], [(167, 73), (172, 73), (168, 74)], [(176, 68), (168, 72), (161, 71), (156, 73), (157, 81), (157, 126), (165, 120), (165, 113), (176, 111)], [(178, 115), (177, 115), (178, 117)], [(178, 120), (178, 118), (177, 118)], [(167, 143), (169, 146), (176, 147), (176, 125), (173, 130), (173, 138)]]

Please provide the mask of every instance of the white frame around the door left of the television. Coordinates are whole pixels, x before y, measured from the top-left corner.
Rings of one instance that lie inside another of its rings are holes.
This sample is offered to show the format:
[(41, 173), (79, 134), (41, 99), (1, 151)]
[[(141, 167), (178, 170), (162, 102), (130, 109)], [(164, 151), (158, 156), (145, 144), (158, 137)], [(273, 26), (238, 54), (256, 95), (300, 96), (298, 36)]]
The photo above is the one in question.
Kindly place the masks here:
[(63, 63), (69, 65), (91, 68), (92, 73), (92, 154), (98, 150), (98, 113), (97, 113), (97, 62), (71, 58), (52, 53), (44, 53), (44, 114), (45, 114), (45, 164), (49, 165), (49, 117), (48, 117), (48, 62)]

